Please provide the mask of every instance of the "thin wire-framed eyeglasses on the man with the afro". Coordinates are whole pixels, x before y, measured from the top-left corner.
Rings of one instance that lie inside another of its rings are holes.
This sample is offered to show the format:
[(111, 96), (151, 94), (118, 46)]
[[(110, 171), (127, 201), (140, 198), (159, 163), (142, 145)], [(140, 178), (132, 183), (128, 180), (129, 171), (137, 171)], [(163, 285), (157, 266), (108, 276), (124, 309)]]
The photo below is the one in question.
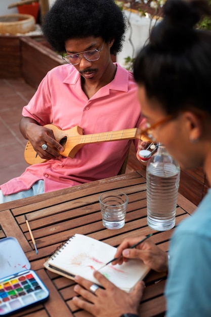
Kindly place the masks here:
[(90, 50), (85, 52), (80, 52), (76, 54), (71, 55), (65, 55), (62, 58), (67, 62), (68, 64), (77, 65), (80, 63), (81, 57), (86, 58), (89, 62), (97, 61), (100, 58), (100, 52), (103, 50), (103, 46), (105, 44), (105, 41), (103, 42), (103, 45), (100, 50)]

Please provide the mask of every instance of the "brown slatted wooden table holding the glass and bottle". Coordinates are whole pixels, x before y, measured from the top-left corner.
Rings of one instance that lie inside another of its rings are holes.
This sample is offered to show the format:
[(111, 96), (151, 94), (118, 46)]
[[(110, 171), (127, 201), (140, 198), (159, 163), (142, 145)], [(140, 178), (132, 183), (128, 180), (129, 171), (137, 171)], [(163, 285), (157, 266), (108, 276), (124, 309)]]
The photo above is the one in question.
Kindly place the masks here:
[[(146, 220), (146, 179), (143, 172), (119, 175), (87, 184), (81, 184), (51, 193), (0, 205), (0, 238), (14, 236), (23, 248), (31, 268), (37, 272), (50, 291), (50, 298), (14, 317), (87, 317), (72, 303), (74, 281), (47, 271), (43, 263), (68, 237), (74, 233), (87, 234), (95, 239), (118, 246), (129, 236), (147, 235), (151, 232), (152, 241), (164, 251), (168, 250), (173, 229), (158, 232), (147, 226)], [(102, 225), (99, 206), (101, 192), (118, 189), (129, 195), (126, 223), (118, 230), (108, 230)], [(189, 216), (195, 205), (181, 194), (178, 196), (176, 224)], [(25, 223), (24, 214), (30, 223), (38, 255)], [(165, 274), (151, 271), (146, 281), (146, 290), (140, 305), (142, 317), (164, 316), (163, 295)]]

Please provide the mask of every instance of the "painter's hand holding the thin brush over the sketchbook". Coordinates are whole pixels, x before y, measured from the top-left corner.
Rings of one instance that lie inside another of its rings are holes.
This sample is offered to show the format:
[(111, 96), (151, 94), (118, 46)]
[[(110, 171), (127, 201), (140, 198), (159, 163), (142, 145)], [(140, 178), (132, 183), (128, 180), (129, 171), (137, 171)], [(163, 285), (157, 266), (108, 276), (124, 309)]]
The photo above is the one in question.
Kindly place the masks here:
[[(112, 264), (122, 264), (128, 259), (141, 259), (147, 266), (157, 272), (167, 271), (167, 253), (157, 247), (150, 239), (147, 239), (134, 249), (129, 249), (139, 242), (143, 237), (134, 237), (125, 239), (117, 248), (115, 258)], [(122, 256), (121, 256), (122, 255)]]

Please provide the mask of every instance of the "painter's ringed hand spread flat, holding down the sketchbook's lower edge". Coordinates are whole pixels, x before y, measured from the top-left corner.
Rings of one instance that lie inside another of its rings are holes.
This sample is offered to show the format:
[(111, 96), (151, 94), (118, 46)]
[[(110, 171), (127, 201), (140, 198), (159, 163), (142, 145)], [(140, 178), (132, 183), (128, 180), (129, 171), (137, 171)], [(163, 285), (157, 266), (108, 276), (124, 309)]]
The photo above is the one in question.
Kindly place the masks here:
[(125, 293), (109, 282), (100, 272), (94, 272), (95, 278), (104, 287), (98, 288), (95, 294), (89, 291), (92, 282), (75, 276), (74, 291), (82, 297), (73, 297), (73, 303), (92, 313), (96, 317), (119, 317), (123, 313), (138, 314), (138, 307), (145, 288), (144, 282), (139, 282), (131, 293)]

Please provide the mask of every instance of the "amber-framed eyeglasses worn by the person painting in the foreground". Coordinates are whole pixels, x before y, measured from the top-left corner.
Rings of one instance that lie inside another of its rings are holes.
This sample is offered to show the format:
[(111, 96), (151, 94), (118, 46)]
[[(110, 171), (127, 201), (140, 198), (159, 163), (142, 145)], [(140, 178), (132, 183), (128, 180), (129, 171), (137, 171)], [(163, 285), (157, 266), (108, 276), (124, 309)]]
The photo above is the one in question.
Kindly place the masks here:
[(141, 124), (140, 126), (140, 130), (141, 130), (141, 135), (144, 135), (147, 139), (149, 139), (152, 142), (155, 142), (156, 139), (154, 137), (154, 130), (155, 128), (162, 126), (163, 124), (173, 120), (174, 118), (176, 118), (178, 116), (178, 113), (174, 113), (174, 114), (169, 114), (166, 117), (164, 117), (162, 120), (156, 122), (153, 125), (150, 125), (147, 121), (145, 121), (143, 124)]

